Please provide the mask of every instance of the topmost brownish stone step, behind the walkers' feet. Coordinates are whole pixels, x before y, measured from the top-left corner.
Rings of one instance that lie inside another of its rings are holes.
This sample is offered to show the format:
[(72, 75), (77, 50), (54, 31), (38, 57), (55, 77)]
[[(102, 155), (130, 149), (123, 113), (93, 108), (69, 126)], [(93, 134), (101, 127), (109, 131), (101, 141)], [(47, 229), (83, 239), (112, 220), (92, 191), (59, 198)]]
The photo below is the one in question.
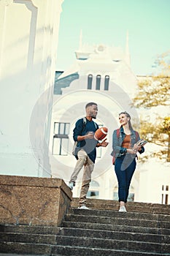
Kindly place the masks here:
[[(72, 208), (77, 208), (79, 198), (74, 197), (72, 200)], [(115, 200), (104, 200), (104, 199), (87, 199), (87, 206), (89, 208), (105, 209), (118, 211), (119, 202)], [(139, 202), (128, 202), (125, 206), (127, 211), (143, 212), (150, 214), (166, 214), (170, 215), (170, 206), (159, 203), (139, 203)]]

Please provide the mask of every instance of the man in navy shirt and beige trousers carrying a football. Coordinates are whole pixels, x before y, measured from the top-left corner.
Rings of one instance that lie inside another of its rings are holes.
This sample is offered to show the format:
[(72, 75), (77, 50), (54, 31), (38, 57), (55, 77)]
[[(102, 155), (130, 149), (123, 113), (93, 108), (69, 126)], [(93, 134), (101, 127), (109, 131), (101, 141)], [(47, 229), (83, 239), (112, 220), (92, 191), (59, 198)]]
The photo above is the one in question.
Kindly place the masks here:
[(98, 124), (96, 124), (92, 119), (96, 119), (98, 113), (97, 104), (94, 102), (88, 103), (85, 106), (85, 111), (85, 125), (83, 126), (83, 118), (81, 118), (76, 122), (73, 130), (74, 141), (77, 141), (77, 164), (69, 181), (69, 188), (72, 190), (75, 186), (77, 176), (84, 166), (82, 188), (78, 206), (78, 208), (81, 209), (89, 209), (87, 206), (85, 206), (85, 203), (90, 186), (91, 173), (93, 172), (94, 163), (96, 160), (96, 147), (106, 147), (108, 145), (106, 142), (107, 139), (103, 140), (101, 143), (98, 143), (98, 141), (94, 139), (94, 133), (98, 129)]

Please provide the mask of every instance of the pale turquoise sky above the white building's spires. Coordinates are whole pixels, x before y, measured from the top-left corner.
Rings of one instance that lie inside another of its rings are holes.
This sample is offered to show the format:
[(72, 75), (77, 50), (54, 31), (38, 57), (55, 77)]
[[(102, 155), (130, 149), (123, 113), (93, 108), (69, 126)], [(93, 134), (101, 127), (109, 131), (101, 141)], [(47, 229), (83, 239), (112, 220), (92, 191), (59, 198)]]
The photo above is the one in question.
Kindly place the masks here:
[(170, 0), (64, 0), (58, 35), (56, 70), (66, 71), (82, 45), (115, 46), (125, 50), (131, 69), (151, 75), (154, 61), (170, 50)]

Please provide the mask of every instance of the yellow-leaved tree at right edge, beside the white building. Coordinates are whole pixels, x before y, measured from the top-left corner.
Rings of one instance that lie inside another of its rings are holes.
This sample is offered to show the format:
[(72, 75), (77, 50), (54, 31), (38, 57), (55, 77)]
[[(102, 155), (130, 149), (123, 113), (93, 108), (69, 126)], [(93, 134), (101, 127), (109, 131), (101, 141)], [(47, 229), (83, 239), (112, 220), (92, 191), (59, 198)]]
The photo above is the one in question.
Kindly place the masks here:
[[(138, 91), (133, 99), (136, 108), (151, 110), (159, 106), (166, 108), (170, 105), (170, 64), (167, 56), (169, 53), (164, 53), (156, 61), (159, 75), (139, 81)], [(141, 120), (141, 137), (160, 146), (158, 151), (152, 152), (152, 157), (166, 158), (166, 161), (170, 162), (170, 116), (163, 118), (158, 116), (154, 122), (146, 119), (147, 116)]]

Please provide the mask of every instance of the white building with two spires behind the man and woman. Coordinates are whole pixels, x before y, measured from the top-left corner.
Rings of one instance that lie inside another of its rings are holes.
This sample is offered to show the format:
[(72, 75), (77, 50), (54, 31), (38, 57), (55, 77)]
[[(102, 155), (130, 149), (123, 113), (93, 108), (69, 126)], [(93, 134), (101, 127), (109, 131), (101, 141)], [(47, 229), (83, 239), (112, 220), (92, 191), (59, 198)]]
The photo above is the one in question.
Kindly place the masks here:
[[(131, 113), (132, 124), (139, 121), (139, 113), (131, 107), (138, 78), (131, 70), (128, 37), (125, 53), (108, 45), (82, 45), (76, 52), (76, 61), (65, 72), (56, 72), (50, 132), (50, 165), (52, 176), (69, 182), (76, 159), (72, 156), (72, 130), (75, 121), (85, 116), (88, 102), (98, 104), (98, 125), (108, 127), (109, 146), (97, 148), (98, 157), (92, 174), (89, 197), (117, 199), (117, 178), (112, 166), (112, 132), (119, 127), (118, 113)], [(147, 145), (145, 146), (147, 150)], [(139, 156), (139, 158), (142, 156)], [(155, 162), (155, 159), (153, 159)], [(131, 182), (129, 200), (167, 203), (170, 176), (167, 167), (157, 163), (138, 162)], [(163, 177), (159, 178), (161, 165)], [(156, 175), (155, 175), (156, 174)], [(165, 176), (164, 176), (165, 175)], [(74, 197), (79, 197), (82, 172), (74, 187)], [(166, 177), (166, 178), (165, 178)], [(146, 182), (147, 181), (147, 182)], [(166, 191), (164, 191), (166, 190)], [(166, 201), (165, 201), (166, 198)]]

